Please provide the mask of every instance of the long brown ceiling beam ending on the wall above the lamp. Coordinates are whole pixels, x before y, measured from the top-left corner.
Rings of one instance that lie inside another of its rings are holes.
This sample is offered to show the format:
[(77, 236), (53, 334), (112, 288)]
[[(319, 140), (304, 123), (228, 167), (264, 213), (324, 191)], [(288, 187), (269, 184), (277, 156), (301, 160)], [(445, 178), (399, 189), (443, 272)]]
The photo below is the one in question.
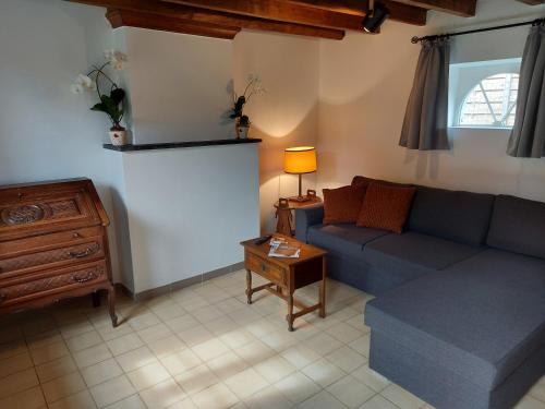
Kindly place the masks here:
[[(157, 0), (68, 0), (89, 5), (98, 5), (112, 10), (129, 10), (182, 20), (183, 22), (213, 24), (227, 27), (242, 27), (265, 32), (286, 33), (328, 39), (342, 39), (341, 29), (315, 27), (303, 24), (292, 24), (266, 19), (255, 19), (245, 15), (234, 15), (213, 10), (171, 4)], [(166, 28), (164, 28), (166, 29)]]

